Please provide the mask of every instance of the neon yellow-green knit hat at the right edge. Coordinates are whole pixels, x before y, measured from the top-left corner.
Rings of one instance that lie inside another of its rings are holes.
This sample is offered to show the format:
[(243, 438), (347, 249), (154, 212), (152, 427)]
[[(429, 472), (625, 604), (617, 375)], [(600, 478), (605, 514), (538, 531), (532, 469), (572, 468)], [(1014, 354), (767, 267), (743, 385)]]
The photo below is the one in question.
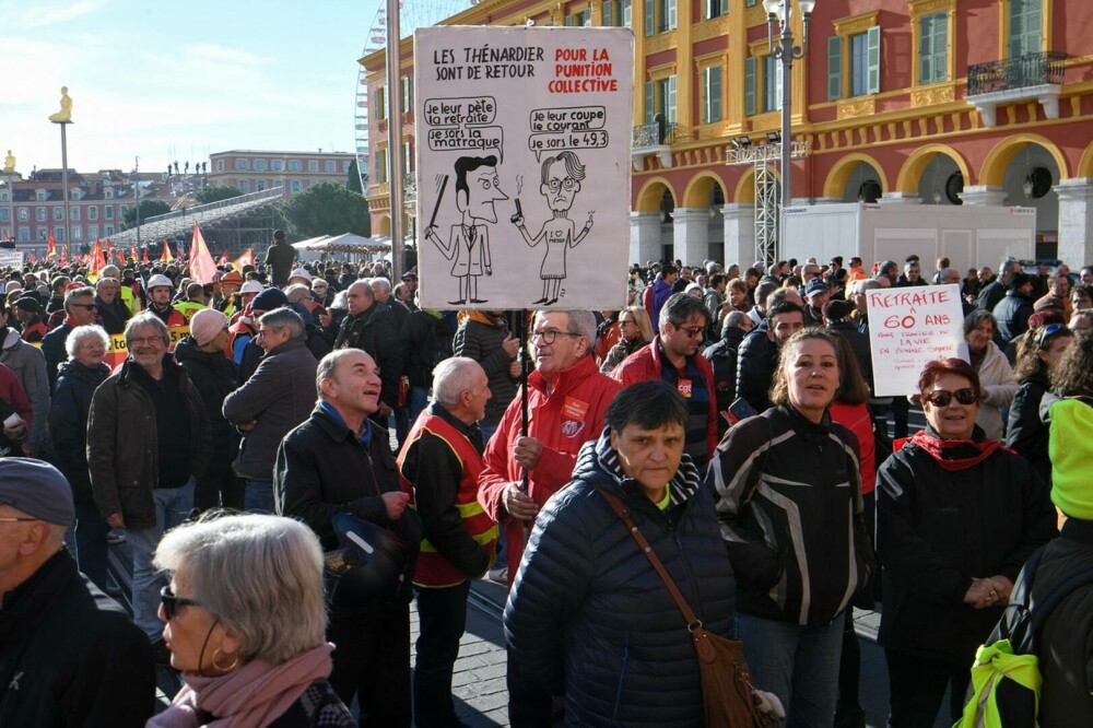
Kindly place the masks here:
[(1050, 409), (1047, 451), (1051, 458), (1051, 501), (1072, 518), (1093, 520), (1093, 407), (1078, 399), (1061, 399)]

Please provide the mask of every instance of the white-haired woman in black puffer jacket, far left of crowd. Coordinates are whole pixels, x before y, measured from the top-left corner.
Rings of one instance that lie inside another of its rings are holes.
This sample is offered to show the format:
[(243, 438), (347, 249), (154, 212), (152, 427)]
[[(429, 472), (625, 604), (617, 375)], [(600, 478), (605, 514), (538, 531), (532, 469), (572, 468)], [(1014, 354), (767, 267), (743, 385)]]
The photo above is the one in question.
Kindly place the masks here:
[(69, 359), (58, 368), (57, 389), (49, 406), (54, 463), (68, 479), (75, 501), (75, 545), (80, 571), (106, 589), (106, 533), (109, 528), (95, 506), (87, 474), (87, 412), (98, 385), (110, 375), (103, 363), (109, 337), (101, 326), (72, 329), (64, 348)]

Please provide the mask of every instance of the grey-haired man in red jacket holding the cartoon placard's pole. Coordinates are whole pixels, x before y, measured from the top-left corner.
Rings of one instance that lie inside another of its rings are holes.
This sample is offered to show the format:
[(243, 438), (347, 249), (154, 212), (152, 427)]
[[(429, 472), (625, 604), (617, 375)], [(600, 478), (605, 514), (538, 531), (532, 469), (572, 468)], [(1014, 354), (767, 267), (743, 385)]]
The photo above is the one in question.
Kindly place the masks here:
[[(479, 503), (505, 528), (509, 587), (536, 514), (569, 481), (577, 451), (599, 437), (608, 404), (620, 389), (596, 367), (591, 312), (540, 310), (532, 331), (536, 371), (528, 375), (528, 435), (520, 435), (517, 392), (486, 446), (485, 469), (479, 475)], [(551, 695), (524, 677), (512, 655), (507, 683), (513, 728), (543, 725)]]

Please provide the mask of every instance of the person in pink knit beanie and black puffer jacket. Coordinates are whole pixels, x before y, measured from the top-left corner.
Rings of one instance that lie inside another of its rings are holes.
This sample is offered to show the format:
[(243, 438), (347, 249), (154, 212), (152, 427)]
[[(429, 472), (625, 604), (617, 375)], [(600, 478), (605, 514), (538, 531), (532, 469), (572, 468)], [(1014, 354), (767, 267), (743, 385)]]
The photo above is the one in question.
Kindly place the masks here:
[(178, 342), (178, 362), (198, 388), (212, 425), (213, 454), (205, 473), (198, 479), (195, 505), (201, 510), (223, 506), (243, 509), (243, 481), (232, 470), (239, 449), (239, 433), (224, 419), (224, 398), (236, 389), (238, 365), (226, 355), (227, 317), (205, 308), (190, 319), (190, 336)]

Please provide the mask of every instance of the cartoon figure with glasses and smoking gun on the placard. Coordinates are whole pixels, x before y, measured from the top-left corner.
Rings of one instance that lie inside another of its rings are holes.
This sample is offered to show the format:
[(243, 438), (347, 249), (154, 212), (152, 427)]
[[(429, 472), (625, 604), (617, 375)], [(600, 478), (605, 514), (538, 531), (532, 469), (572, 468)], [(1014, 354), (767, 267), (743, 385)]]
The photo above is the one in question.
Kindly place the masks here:
[(520, 231), (524, 240), (534, 248), (545, 242), (546, 250), (543, 263), (539, 268), (539, 278), (543, 282), (543, 295), (534, 304), (551, 306), (557, 303), (565, 280), (565, 254), (585, 239), (592, 228), (593, 211), (589, 211), (588, 220), (579, 234), (574, 234), (576, 225), (569, 220), (569, 209), (580, 191), (580, 183), (585, 178), (585, 165), (577, 155), (568, 150), (556, 156), (548, 156), (542, 163), (542, 184), (539, 193), (546, 198), (546, 206), (552, 216), (543, 223), (542, 230), (534, 237), (528, 234), (524, 226), (524, 211), (520, 200), (516, 200), (516, 214), (510, 221)]

